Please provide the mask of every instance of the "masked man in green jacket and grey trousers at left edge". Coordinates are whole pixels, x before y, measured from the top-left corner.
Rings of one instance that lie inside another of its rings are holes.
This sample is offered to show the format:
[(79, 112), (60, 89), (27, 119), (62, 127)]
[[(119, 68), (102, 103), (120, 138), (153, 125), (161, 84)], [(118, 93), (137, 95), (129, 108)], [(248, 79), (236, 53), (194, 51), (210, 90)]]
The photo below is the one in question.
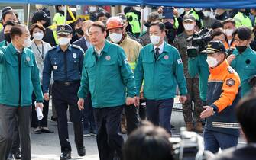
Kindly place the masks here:
[(39, 70), (31, 46), (28, 28), (15, 24), (11, 43), (0, 50), (0, 159), (7, 159), (15, 131), (15, 117), (21, 137), (21, 159), (31, 159), (31, 95), (36, 95), (36, 108), (43, 109)]

